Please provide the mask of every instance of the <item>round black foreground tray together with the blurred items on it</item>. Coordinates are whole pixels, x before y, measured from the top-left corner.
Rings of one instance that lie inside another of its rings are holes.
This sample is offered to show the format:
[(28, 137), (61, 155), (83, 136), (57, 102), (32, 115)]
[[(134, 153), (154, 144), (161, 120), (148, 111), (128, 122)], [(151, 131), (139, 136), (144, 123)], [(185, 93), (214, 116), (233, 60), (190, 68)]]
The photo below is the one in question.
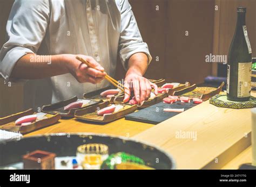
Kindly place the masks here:
[(0, 142), (0, 152), (0, 169), (176, 169), (156, 146), (102, 134), (30, 136)]

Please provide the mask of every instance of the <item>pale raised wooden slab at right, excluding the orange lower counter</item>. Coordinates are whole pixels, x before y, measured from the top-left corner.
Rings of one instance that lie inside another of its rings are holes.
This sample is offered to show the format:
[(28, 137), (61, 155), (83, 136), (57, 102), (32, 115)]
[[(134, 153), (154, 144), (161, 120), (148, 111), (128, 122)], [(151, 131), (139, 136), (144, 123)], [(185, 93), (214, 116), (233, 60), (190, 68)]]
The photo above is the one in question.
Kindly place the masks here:
[[(177, 137), (182, 132), (196, 133), (197, 139)], [(133, 138), (172, 154), (178, 169), (220, 169), (251, 145), (251, 109), (220, 108), (206, 101)]]

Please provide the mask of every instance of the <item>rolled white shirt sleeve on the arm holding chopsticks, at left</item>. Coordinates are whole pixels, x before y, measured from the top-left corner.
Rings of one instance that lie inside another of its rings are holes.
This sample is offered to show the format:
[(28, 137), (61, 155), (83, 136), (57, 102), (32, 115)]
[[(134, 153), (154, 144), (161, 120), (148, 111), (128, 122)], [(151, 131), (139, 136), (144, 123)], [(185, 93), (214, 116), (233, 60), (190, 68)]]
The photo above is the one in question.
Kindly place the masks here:
[(0, 73), (9, 80), (16, 62), (37, 53), (50, 17), (49, 0), (16, 0), (6, 24), (6, 42), (0, 52)]

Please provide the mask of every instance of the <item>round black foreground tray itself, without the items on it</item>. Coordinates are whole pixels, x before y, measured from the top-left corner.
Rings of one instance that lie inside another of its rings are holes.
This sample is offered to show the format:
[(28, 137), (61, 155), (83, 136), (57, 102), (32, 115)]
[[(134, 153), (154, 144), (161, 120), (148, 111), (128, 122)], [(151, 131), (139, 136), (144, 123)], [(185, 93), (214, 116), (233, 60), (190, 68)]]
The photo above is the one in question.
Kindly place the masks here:
[[(109, 155), (125, 152), (140, 157), (146, 166), (154, 169), (175, 169), (172, 156), (164, 150), (145, 142), (102, 134), (46, 134), (0, 143), (0, 167), (22, 161), (22, 155), (35, 150), (55, 153), (57, 157), (76, 156), (77, 147), (85, 143), (103, 143)], [(158, 160), (158, 162), (156, 162)]]

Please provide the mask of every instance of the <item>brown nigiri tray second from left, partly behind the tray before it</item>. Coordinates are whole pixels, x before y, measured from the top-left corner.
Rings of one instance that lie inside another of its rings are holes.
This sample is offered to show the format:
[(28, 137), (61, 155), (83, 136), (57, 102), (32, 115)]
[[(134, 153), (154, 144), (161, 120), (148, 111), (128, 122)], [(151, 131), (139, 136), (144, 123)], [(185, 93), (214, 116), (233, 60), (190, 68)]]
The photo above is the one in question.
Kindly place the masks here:
[(42, 112), (49, 114), (60, 114), (62, 117), (72, 118), (77, 109), (84, 109), (89, 106), (102, 103), (102, 100), (78, 99), (76, 96), (58, 103), (44, 105)]

